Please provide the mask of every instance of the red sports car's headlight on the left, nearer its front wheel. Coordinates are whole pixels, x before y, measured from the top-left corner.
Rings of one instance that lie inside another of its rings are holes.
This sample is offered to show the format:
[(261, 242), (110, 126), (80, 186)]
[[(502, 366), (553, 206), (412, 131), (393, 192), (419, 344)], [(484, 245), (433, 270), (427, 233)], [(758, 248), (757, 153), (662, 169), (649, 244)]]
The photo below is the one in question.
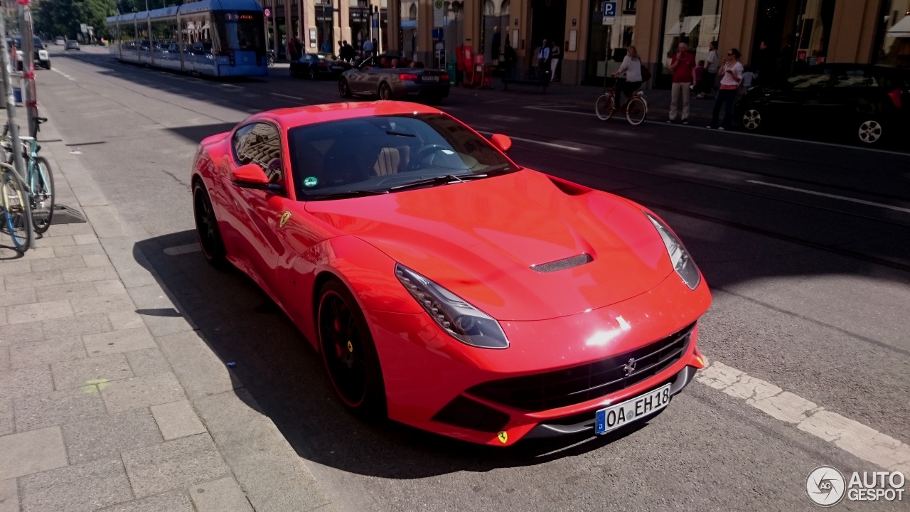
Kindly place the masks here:
[(430, 313), (430, 318), (451, 337), (480, 348), (509, 348), (509, 340), (500, 323), (487, 313), (400, 263), (395, 264), (395, 275)]

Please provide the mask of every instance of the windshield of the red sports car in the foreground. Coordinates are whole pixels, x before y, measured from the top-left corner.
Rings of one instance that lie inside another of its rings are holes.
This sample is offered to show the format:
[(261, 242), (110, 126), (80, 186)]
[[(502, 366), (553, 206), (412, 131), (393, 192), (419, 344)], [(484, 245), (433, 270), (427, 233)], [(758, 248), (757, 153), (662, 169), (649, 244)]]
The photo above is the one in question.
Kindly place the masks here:
[(300, 200), (516, 170), (485, 138), (443, 114), (374, 116), (291, 128), (288, 146)]

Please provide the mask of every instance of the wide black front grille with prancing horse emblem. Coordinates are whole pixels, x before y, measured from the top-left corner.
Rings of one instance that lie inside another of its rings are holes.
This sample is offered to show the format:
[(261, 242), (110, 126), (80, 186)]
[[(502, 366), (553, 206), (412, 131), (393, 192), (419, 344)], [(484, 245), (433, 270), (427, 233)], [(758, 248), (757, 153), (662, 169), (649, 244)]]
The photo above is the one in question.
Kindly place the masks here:
[[(524, 375), (478, 384), (469, 394), (528, 411), (545, 411), (616, 393), (676, 363), (689, 346), (695, 324), (627, 353), (544, 374)], [(626, 364), (635, 360), (632, 373)]]

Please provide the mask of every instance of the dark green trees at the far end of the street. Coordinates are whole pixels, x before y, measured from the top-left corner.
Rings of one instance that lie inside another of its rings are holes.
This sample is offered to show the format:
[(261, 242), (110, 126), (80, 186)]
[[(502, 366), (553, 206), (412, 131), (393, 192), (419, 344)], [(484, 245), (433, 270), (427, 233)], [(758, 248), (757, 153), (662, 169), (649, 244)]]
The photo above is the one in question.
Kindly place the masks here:
[(115, 0), (42, 0), (35, 6), (35, 32), (75, 38), (80, 24), (106, 34), (105, 18), (116, 15)]

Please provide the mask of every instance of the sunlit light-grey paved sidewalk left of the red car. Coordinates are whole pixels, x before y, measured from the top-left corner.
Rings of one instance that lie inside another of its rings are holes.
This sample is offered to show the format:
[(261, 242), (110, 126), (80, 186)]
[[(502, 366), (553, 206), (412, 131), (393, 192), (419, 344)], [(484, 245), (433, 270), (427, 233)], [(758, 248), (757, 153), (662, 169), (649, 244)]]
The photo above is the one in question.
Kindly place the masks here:
[(41, 135), (57, 202), (88, 222), (0, 250), (0, 512), (333, 509), (142, 264), (147, 235)]

